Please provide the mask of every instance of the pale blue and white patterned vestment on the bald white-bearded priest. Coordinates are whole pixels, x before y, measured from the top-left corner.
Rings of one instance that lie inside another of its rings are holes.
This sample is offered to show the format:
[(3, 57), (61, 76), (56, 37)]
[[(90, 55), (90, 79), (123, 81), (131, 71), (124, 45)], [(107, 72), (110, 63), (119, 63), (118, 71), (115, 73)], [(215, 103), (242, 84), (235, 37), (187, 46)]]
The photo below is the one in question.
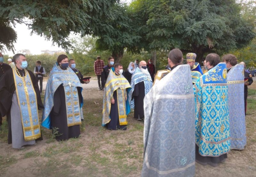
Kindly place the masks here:
[(142, 81), (144, 82), (144, 85), (145, 85), (145, 95), (146, 95), (153, 86), (152, 78), (149, 73), (148, 75), (146, 75), (141, 72), (139, 67), (137, 67), (135, 69), (135, 72), (132, 74), (132, 80), (131, 80), (132, 89), (128, 93), (129, 104), (132, 109), (134, 109), (134, 100), (132, 100), (132, 92), (134, 91), (135, 85)]

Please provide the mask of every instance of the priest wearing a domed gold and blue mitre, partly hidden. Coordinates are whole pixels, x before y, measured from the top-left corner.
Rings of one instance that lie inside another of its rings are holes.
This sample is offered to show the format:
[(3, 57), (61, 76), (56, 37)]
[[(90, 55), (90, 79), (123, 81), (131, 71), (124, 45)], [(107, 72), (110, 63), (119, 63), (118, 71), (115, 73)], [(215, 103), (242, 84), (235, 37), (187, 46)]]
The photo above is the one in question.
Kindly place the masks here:
[(196, 54), (195, 53), (188, 53), (186, 55), (187, 64), (189, 64), (191, 69), (191, 76), (193, 84), (196, 83), (197, 79), (203, 75), (203, 71), (201, 70), (200, 64), (196, 63)]

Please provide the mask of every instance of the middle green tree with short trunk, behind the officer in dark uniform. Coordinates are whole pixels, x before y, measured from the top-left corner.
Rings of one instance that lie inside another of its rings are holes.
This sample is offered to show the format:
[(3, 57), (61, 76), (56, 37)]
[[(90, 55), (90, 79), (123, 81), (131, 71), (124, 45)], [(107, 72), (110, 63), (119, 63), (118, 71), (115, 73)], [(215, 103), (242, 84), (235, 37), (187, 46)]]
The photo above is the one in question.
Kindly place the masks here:
[(136, 34), (137, 28), (131, 25), (129, 9), (125, 4), (116, 3), (111, 7), (109, 15), (112, 18), (97, 19), (98, 21), (93, 22), (92, 34), (99, 37), (96, 48), (111, 51), (115, 62), (119, 63), (125, 48), (130, 52), (139, 52), (135, 48), (140, 36)]

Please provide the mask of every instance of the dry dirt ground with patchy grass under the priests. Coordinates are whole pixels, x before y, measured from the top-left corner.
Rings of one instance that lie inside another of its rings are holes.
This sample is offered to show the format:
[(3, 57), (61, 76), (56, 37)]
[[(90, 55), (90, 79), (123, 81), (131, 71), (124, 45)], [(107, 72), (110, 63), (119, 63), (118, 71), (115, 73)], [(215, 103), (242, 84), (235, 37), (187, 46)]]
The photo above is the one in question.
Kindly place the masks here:
[[(254, 77), (255, 78), (255, 77)], [(256, 80), (256, 78), (255, 78)], [(249, 87), (256, 90), (256, 82)], [(0, 136), (0, 176), (140, 176), (143, 163), (143, 123), (128, 116), (126, 131), (102, 128), (103, 91), (85, 89), (81, 137), (57, 142), (42, 128), (43, 141), (16, 150)], [(248, 97), (256, 100), (256, 93)], [(255, 101), (254, 101), (255, 102)], [(42, 114), (42, 111), (39, 111)], [(4, 124), (6, 125), (6, 124)], [(3, 126), (4, 126), (3, 125)], [(256, 105), (246, 116), (247, 145), (231, 150), (217, 167), (196, 163), (196, 176), (256, 176)]]

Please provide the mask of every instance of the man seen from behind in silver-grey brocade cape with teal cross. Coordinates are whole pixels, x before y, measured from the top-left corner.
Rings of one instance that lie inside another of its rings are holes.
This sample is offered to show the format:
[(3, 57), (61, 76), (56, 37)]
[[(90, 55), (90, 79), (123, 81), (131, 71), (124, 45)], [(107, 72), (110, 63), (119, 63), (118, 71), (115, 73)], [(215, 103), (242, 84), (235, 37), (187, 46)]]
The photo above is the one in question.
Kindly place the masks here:
[(172, 71), (144, 98), (144, 162), (141, 176), (195, 175), (195, 101), (182, 52), (168, 55)]

